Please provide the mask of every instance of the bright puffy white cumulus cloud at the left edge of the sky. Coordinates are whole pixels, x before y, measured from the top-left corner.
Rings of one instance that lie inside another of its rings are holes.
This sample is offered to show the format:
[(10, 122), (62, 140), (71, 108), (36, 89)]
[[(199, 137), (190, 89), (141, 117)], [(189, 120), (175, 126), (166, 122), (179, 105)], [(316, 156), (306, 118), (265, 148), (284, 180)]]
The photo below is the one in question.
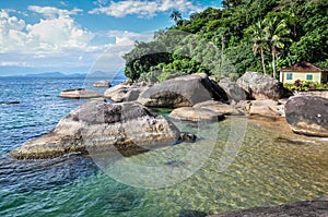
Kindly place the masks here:
[(0, 52), (60, 52), (66, 48), (86, 48), (94, 34), (79, 26), (70, 14), (79, 9), (68, 11), (51, 7), (28, 7), (42, 13), (36, 24), (26, 24), (24, 20), (10, 16), (0, 11)]

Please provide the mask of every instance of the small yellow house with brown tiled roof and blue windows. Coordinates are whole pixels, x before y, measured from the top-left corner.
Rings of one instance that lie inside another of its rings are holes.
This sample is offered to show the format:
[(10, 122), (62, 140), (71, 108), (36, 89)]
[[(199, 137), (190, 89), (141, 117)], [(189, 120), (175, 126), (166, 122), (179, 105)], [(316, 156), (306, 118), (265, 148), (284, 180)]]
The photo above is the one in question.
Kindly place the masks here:
[(280, 69), (281, 83), (294, 83), (297, 80), (327, 84), (328, 71), (306, 61)]

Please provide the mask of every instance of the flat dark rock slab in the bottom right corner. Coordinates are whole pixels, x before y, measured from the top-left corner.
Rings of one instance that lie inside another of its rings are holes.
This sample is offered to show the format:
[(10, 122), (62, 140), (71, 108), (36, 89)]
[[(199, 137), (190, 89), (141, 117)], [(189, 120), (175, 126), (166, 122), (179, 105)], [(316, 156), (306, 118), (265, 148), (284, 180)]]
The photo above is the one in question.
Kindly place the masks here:
[(225, 214), (211, 215), (209, 217), (277, 217), (277, 216), (328, 216), (328, 196), (312, 201), (294, 202), (278, 206), (255, 207)]

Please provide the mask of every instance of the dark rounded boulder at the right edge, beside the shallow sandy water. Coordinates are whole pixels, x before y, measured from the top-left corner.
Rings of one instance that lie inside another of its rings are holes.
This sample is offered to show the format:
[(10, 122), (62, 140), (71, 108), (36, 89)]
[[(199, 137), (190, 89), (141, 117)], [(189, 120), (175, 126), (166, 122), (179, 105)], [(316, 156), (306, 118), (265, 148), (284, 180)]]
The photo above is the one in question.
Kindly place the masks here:
[(295, 96), (285, 104), (285, 118), (295, 133), (328, 137), (328, 99)]

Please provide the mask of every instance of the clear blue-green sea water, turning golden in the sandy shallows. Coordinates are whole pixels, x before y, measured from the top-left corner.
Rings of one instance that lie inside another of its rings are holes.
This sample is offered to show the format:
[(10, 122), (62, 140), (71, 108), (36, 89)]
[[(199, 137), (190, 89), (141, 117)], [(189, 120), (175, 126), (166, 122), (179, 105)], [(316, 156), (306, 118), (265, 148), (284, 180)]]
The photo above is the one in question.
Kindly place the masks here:
[[(238, 135), (231, 126), (245, 123), (239, 118), (206, 125), (201, 131), (178, 123), (185, 131), (201, 134), (202, 140), (118, 160), (118, 166), (165, 165), (175, 171), (184, 167), (180, 158), (190, 148), (197, 145), (206, 152), (214, 138), (214, 148), (199, 170), (164, 188), (120, 183), (110, 176), (118, 168), (99, 169), (101, 161), (94, 156), (71, 154), (47, 160), (15, 160), (7, 155), (54, 129), (66, 113), (81, 105), (81, 100), (57, 95), (83, 85), (83, 79), (0, 79), (0, 101), (21, 101), (0, 105), (0, 216), (203, 216), (328, 194), (327, 141), (267, 130), (251, 122), (247, 123), (234, 161), (221, 171), (218, 161), (226, 142), (231, 135)], [(195, 155), (195, 160), (201, 154)], [(128, 179), (140, 171), (121, 172)], [(149, 178), (155, 180), (159, 176)], [(160, 181), (168, 178), (160, 177)]]

